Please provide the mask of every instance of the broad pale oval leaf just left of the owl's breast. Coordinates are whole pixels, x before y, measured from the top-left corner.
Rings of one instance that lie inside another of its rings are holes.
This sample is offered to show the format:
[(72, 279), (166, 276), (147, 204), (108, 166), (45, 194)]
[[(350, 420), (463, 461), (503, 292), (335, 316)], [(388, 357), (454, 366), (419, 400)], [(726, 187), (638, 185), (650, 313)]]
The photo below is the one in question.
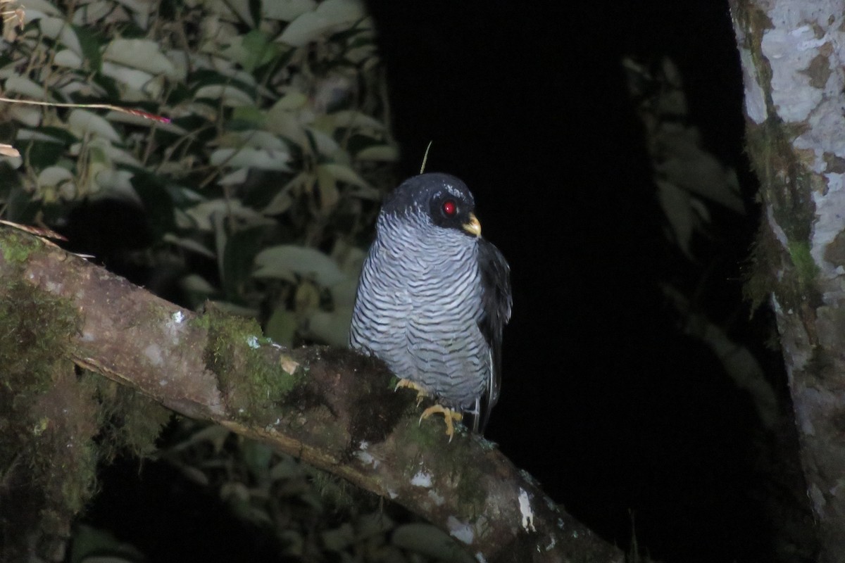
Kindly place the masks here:
[(277, 278), (295, 282), (296, 276), (313, 279), (329, 287), (346, 279), (335, 261), (323, 252), (303, 246), (270, 246), (255, 257), (256, 278)]

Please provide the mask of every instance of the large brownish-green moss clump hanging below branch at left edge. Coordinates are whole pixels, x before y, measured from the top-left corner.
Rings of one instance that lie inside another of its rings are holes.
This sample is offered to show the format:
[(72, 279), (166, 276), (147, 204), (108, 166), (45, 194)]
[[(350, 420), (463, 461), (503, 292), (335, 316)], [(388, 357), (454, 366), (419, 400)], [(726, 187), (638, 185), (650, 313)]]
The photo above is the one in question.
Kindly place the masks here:
[[(3, 236), (8, 241), (8, 235)], [(9, 246), (3, 246), (4, 252)], [(6, 255), (7, 256), (8, 252)], [(77, 309), (10, 276), (0, 300), (0, 557), (32, 533), (63, 534), (95, 488), (97, 403), (69, 360)]]

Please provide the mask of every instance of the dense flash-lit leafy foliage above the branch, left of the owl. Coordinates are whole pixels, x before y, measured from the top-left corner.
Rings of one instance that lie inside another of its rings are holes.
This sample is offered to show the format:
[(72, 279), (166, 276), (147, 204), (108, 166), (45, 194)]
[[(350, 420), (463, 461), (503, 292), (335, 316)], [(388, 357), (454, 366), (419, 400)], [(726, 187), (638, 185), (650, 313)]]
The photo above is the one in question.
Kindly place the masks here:
[[(282, 344), (343, 344), (361, 233), (372, 225), (395, 146), (372, 22), (355, 0), (279, 3), (26, 3), (0, 59), (4, 95), (108, 104), (5, 103), (20, 157), (0, 192), (5, 219), (63, 219), (79, 203), (141, 205), (154, 247), (136, 259), (173, 268), (206, 299), (274, 320)], [(17, 204), (15, 204), (17, 203)], [(296, 247), (338, 275), (300, 268)], [(292, 259), (294, 263), (288, 263)], [(257, 274), (257, 272), (260, 272)], [(301, 289), (306, 286), (306, 289)]]

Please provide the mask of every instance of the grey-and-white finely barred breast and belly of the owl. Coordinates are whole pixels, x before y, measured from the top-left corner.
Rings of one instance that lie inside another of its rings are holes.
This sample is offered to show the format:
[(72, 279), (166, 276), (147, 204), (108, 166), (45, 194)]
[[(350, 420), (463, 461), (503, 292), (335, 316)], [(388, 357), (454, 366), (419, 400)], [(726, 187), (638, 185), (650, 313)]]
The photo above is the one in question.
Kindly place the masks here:
[(363, 265), (350, 345), (445, 406), (474, 409), (490, 376), (477, 239), (423, 218), (379, 217)]

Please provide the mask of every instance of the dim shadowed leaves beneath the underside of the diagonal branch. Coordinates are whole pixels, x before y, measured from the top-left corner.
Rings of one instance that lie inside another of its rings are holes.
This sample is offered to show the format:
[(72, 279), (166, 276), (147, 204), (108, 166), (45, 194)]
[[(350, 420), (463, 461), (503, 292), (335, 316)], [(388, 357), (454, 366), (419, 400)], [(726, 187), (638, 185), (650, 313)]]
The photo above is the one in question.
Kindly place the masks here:
[(180, 420), (177, 440), (160, 455), (275, 536), (283, 560), (472, 560), (454, 538), (409, 521), (390, 501), (219, 426)]

